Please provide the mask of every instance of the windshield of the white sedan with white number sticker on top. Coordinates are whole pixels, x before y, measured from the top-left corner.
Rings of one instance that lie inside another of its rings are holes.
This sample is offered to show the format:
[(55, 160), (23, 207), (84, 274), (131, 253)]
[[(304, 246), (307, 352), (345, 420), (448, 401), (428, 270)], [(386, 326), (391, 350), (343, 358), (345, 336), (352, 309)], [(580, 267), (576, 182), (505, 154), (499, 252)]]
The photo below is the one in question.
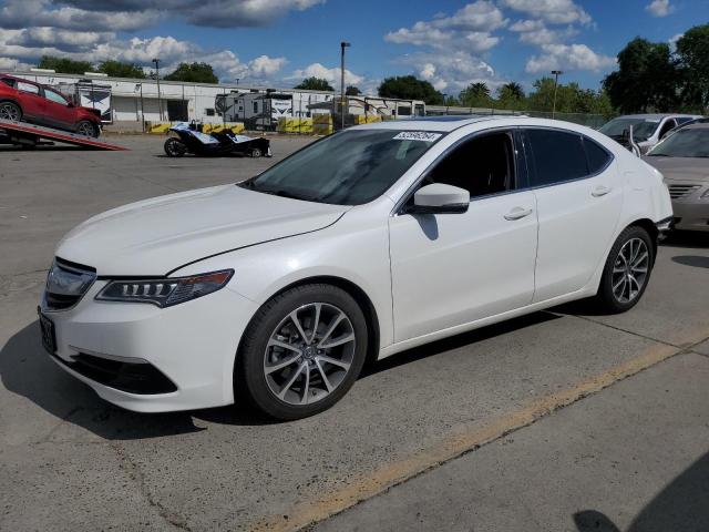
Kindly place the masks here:
[(387, 191), (441, 136), (422, 131), (343, 131), (238, 186), (308, 202), (361, 205)]

